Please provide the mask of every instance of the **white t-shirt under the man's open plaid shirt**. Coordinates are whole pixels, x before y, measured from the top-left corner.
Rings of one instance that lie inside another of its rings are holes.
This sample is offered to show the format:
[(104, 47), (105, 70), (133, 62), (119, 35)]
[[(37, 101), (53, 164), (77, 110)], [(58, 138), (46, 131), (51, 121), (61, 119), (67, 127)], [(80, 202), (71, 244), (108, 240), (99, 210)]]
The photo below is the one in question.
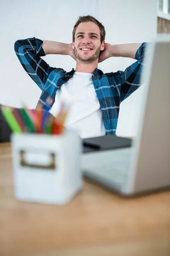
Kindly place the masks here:
[(105, 135), (102, 111), (91, 73), (74, 72), (73, 77), (57, 90), (49, 112), (57, 116), (62, 101), (72, 102), (65, 128), (77, 129), (82, 139)]

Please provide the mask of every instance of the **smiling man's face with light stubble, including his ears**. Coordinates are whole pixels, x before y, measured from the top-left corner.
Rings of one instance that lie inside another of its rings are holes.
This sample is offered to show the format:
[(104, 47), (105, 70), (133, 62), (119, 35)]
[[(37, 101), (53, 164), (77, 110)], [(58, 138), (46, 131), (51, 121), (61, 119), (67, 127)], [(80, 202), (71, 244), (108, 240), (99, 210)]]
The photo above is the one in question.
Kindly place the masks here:
[(83, 62), (93, 62), (99, 58), (100, 51), (105, 48), (105, 41), (100, 42), (99, 27), (93, 22), (82, 22), (76, 29), (72, 42), (76, 58)]

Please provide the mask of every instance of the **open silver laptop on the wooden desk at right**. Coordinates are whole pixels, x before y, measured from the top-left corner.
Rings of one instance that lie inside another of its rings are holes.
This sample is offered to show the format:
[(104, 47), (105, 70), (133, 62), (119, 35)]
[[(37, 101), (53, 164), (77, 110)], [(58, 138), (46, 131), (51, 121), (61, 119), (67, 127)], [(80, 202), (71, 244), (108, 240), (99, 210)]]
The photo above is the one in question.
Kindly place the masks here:
[(145, 61), (136, 139), (82, 154), (85, 177), (126, 196), (170, 187), (170, 35), (149, 44)]

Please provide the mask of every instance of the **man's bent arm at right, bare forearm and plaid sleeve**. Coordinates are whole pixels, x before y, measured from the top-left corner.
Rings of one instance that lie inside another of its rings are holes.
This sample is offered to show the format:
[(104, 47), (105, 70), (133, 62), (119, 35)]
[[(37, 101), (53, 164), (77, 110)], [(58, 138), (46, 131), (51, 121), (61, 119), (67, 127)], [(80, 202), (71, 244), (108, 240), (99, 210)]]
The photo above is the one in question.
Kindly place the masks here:
[(105, 49), (99, 56), (99, 62), (110, 57), (129, 57), (137, 60), (127, 67), (125, 71), (117, 71), (117, 76), (115, 76), (115, 88), (116, 93), (118, 93), (120, 97), (120, 102), (142, 85), (141, 74), (144, 65), (144, 55), (147, 54), (146, 48), (147, 43), (119, 45), (105, 43)]

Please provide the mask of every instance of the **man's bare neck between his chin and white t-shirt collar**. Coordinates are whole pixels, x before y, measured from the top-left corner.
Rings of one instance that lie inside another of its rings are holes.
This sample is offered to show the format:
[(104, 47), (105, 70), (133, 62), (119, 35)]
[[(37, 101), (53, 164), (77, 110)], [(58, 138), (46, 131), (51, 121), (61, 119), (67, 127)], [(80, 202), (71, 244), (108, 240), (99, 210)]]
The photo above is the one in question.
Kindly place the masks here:
[(98, 67), (98, 59), (96, 61), (92, 62), (92, 63), (82, 62), (82, 61), (77, 60), (75, 71), (76, 72), (93, 74), (96, 67)]

